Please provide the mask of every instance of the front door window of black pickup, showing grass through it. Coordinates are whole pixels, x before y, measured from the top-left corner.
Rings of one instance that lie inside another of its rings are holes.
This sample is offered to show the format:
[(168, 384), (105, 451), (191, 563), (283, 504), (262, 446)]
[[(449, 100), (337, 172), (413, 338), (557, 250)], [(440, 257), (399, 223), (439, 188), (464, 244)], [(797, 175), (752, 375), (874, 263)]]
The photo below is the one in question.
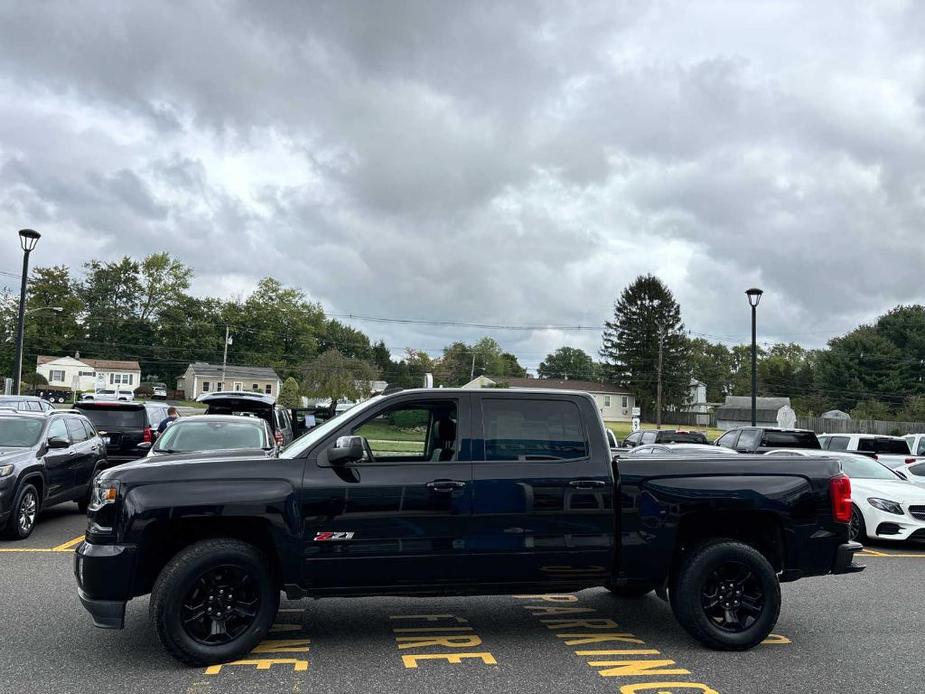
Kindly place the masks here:
[(367, 419), (351, 433), (369, 444), (373, 462), (451, 462), (459, 450), (455, 402), (408, 403)]

